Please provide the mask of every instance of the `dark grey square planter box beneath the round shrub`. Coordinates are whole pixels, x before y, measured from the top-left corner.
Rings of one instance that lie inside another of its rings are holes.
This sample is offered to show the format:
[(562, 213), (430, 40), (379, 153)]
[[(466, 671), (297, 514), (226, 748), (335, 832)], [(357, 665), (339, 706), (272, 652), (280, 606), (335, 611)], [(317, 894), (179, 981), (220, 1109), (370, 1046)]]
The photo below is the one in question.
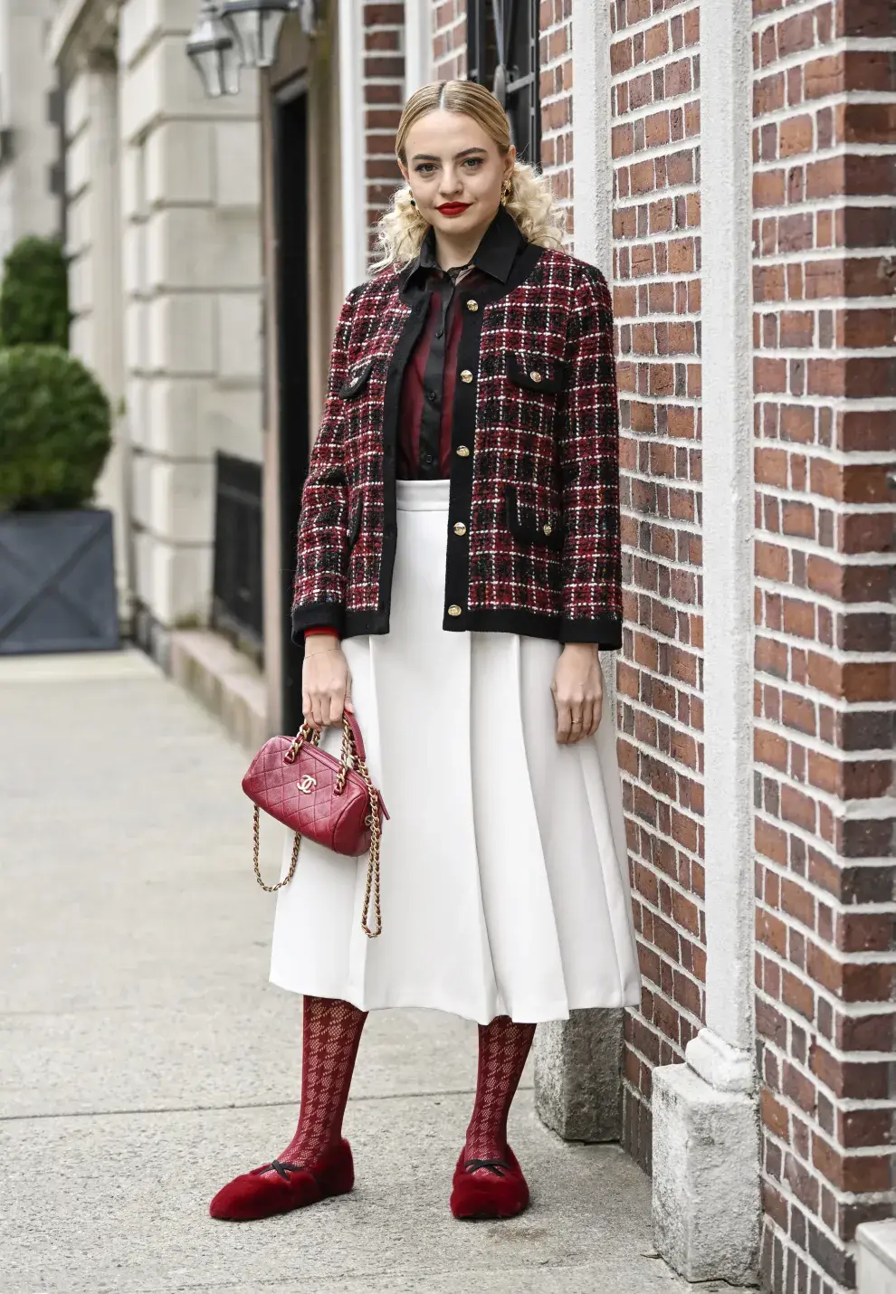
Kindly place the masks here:
[(0, 656), (118, 646), (111, 512), (0, 512)]

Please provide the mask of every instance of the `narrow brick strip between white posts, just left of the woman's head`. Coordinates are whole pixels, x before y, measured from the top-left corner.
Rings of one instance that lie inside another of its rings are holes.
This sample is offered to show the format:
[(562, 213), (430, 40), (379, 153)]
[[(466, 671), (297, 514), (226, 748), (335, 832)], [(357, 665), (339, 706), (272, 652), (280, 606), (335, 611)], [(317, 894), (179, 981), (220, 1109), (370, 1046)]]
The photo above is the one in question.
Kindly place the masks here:
[(404, 104), (404, 4), (364, 5), (364, 138), (368, 251), (377, 243), (377, 221), (388, 207), (401, 172), (395, 132)]

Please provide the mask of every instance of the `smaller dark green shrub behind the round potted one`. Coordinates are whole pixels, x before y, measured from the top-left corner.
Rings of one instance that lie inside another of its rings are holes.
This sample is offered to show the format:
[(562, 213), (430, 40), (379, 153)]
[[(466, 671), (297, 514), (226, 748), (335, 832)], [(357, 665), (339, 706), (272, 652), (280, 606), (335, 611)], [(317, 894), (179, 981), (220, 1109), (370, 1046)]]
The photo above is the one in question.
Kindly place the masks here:
[(3, 265), (3, 345), (69, 349), (69, 265), (53, 238), (22, 238)]

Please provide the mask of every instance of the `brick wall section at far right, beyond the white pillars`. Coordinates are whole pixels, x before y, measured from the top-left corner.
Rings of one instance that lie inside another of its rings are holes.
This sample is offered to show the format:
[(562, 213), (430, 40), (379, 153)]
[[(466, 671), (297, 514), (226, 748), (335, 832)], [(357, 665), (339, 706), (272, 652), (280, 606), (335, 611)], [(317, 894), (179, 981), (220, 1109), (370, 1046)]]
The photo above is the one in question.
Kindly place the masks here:
[(896, 1185), (893, 36), (883, 0), (754, 0), (756, 1026), (776, 1294), (852, 1288), (856, 1225), (890, 1215)]

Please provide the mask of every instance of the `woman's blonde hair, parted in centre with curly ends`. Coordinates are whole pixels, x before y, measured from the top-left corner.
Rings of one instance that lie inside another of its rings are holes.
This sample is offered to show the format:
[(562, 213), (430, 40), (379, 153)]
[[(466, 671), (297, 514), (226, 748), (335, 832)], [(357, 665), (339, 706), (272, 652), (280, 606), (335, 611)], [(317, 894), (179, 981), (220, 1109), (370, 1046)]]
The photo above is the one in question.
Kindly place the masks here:
[[(398, 135), (395, 136), (395, 155), (407, 166), (408, 132), (421, 116), (444, 109), (448, 113), (462, 113), (482, 126), (506, 154), (510, 148), (510, 122), (491, 91), (476, 82), (434, 82), (422, 85), (404, 105)], [(519, 225), (527, 242), (540, 247), (562, 247), (563, 212), (554, 202), (550, 182), (540, 171), (515, 162), (510, 173), (510, 194), (506, 210)], [(382, 258), (373, 267), (385, 269), (387, 265), (407, 265), (420, 254), (421, 245), (429, 230), (429, 223), (410, 202), (410, 189), (401, 185), (395, 190), (392, 202), (378, 225), (378, 243)]]

